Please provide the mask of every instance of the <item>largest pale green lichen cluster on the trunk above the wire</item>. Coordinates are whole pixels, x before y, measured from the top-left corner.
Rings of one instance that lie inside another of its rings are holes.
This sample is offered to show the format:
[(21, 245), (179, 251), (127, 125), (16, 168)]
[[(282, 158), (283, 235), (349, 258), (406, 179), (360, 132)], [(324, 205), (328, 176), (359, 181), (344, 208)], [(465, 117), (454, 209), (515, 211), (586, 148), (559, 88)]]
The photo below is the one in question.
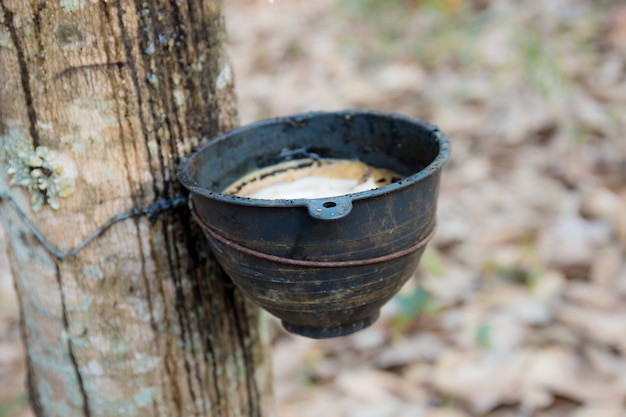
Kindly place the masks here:
[(18, 131), (10, 129), (8, 135), (0, 137), (0, 149), (9, 184), (30, 192), (33, 211), (46, 204), (58, 210), (59, 199), (74, 192), (74, 182), (62, 178), (63, 167), (55, 163), (55, 153), (47, 147), (34, 148)]

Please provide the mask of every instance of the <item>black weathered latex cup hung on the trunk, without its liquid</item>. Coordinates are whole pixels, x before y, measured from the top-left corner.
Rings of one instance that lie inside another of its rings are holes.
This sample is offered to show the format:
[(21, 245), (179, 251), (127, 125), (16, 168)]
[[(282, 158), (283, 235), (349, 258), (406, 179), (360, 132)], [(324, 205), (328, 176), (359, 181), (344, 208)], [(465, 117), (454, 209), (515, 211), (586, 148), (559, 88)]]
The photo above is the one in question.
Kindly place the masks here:
[[(406, 177), (323, 199), (221, 193), (253, 170), (310, 154), (357, 158)], [(179, 178), (235, 285), (287, 330), (324, 338), (369, 326), (414, 272), (420, 242), (435, 227), (448, 156), (448, 139), (425, 122), (365, 111), (311, 113), (219, 136), (181, 165)]]

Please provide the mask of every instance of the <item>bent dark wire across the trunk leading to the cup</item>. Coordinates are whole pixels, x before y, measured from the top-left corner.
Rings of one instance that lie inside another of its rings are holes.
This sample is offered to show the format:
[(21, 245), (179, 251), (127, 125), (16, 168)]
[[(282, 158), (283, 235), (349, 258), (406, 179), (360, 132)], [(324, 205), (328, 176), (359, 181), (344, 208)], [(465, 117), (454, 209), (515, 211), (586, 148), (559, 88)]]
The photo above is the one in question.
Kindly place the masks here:
[(177, 195), (171, 199), (158, 199), (154, 203), (150, 204), (146, 207), (138, 207), (132, 209), (129, 212), (118, 214), (117, 216), (111, 217), (106, 223), (100, 226), (95, 232), (93, 232), (89, 237), (83, 240), (78, 246), (68, 252), (61, 252), (54, 246), (52, 246), (44, 237), (44, 235), (35, 227), (35, 225), (30, 221), (26, 213), (22, 211), (19, 205), (13, 200), (13, 198), (3, 192), (0, 192), (0, 200), (5, 200), (9, 203), (9, 205), (15, 210), (20, 219), (26, 224), (26, 226), (30, 229), (30, 231), (35, 235), (35, 238), (41, 243), (41, 245), (55, 258), (57, 259), (67, 259), (78, 252), (83, 250), (88, 244), (90, 244), (95, 238), (101, 236), (104, 232), (106, 232), (111, 226), (115, 223), (121, 222), (123, 220), (127, 220), (133, 217), (139, 216), (148, 216), (151, 222), (155, 222), (156, 218), (159, 214), (173, 210), (174, 208), (184, 204), (187, 201), (187, 198), (182, 195)]

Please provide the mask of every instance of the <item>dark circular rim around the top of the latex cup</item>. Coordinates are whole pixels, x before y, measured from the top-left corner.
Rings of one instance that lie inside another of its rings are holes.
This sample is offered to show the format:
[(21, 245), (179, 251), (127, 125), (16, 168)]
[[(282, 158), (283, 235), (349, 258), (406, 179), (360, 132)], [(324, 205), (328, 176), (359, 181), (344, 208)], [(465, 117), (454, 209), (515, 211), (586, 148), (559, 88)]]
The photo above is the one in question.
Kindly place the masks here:
[[(212, 144), (227, 140), (229, 137), (233, 135), (240, 134), (242, 132), (258, 129), (264, 126), (270, 126), (274, 124), (297, 124), (301, 123), (305, 120), (310, 120), (315, 117), (320, 116), (343, 116), (346, 118), (356, 117), (356, 116), (375, 116), (375, 117), (386, 117), (393, 118), (396, 120), (402, 120), (405, 122), (413, 123), (421, 126), (425, 130), (429, 131), (436, 139), (439, 144), (439, 153), (433, 159), (433, 161), (428, 164), (426, 167), (421, 169), (420, 171), (411, 174), (400, 181), (388, 184), (384, 187), (375, 188), (367, 191), (359, 191), (356, 193), (342, 194), (339, 196), (331, 196), (331, 197), (320, 197), (320, 198), (294, 198), (294, 199), (261, 199), (261, 198), (250, 198), (250, 197), (240, 197), (236, 195), (228, 195), (223, 194), (218, 191), (212, 191), (205, 187), (200, 187), (197, 185), (197, 182), (189, 175), (189, 167), (194, 158), (196, 158), (202, 151), (210, 147)], [(215, 136), (210, 139), (206, 144), (198, 148), (194, 151), (185, 161), (181, 162), (178, 167), (178, 180), (180, 183), (189, 190), (192, 194), (198, 194), (203, 197), (207, 197), (210, 199), (222, 201), (225, 203), (235, 204), (235, 205), (244, 205), (244, 206), (256, 206), (256, 207), (309, 207), (319, 205), (323, 205), (324, 202), (339, 201), (340, 206), (351, 206), (351, 202), (355, 200), (362, 200), (370, 197), (378, 197), (385, 194), (392, 193), (396, 190), (406, 188), (411, 184), (415, 184), (416, 182), (422, 181), (425, 178), (434, 175), (437, 171), (439, 171), (445, 163), (448, 161), (450, 157), (450, 140), (448, 137), (441, 131), (439, 128), (431, 123), (426, 121), (416, 119), (410, 116), (405, 116), (396, 113), (386, 113), (372, 110), (341, 110), (341, 111), (321, 111), (321, 112), (307, 112), (295, 114), (292, 116), (286, 117), (275, 117), (270, 119), (261, 120), (258, 122), (253, 122), (247, 124), (245, 126), (230, 130), (221, 135)], [(311, 211), (311, 210), (309, 210)], [(348, 212), (350, 210), (348, 209)], [(347, 214), (347, 213), (345, 213)], [(337, 216), (335, 216), (337, 217)], [(341, 216), (339, 216), (341, 217)]]

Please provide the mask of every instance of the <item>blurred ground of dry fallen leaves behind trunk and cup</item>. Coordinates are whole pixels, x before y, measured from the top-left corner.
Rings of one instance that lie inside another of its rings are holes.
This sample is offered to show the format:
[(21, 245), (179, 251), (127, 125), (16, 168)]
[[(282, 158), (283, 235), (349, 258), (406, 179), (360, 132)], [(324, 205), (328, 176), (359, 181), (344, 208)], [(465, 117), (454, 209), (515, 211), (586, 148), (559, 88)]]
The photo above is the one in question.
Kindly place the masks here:
[[(242, 124), (364, 108), (453, 145), (437, 235), (374, 326), (269, 318), (279, 417), (626, 416), (626, 3), (225, 7)], [(0, 417), (30, 416), (0, 265)]]

